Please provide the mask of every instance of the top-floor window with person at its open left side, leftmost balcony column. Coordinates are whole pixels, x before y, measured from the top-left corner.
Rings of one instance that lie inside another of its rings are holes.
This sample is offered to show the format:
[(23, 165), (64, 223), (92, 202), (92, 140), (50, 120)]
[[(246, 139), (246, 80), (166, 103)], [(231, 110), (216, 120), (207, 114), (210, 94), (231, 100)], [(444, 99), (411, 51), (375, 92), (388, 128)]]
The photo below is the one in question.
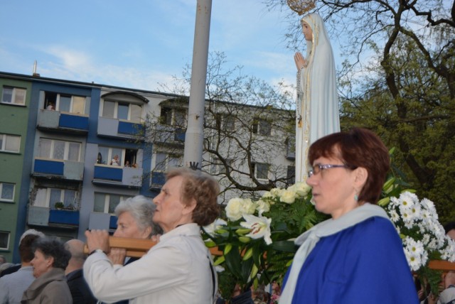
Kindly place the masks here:
[[(73, 96), (68, 94), (58, 94), (54, 92), (45, 92), (44, 108), (55, 109), (60, 112), (69, 112), (75, 114), (87, 114), (85, 109), (86, 97)], [(49, 107), (52, 106), (52, 107)]]

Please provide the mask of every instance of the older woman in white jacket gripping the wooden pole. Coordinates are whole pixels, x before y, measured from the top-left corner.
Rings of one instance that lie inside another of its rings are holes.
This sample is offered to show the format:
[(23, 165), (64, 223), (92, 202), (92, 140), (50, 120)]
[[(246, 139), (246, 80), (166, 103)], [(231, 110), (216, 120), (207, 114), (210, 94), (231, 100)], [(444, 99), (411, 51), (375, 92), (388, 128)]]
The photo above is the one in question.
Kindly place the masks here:
[(99, 300), (130, 303), (213, 303), (216, 273), (200, 227), (218, 217), (218, 183), (189, 168), (171, 170), (154, 198), (154, 222), (164, 234), (141, 259), (113, 266), (106, 231), (86, 232), (93, 252), (85, 262), (85, 278)]

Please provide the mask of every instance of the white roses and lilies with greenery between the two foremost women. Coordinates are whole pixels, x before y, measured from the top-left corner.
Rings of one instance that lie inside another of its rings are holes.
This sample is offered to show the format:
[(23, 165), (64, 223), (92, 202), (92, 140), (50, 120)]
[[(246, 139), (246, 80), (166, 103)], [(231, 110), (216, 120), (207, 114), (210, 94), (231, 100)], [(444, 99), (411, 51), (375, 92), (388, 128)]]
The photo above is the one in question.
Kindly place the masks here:
[(218, 246), (215, 258), (220, 292), (229, 299), (252, 285), (282, 281), (296, 252), (294, 239), (327, 217), (311, 204), (311, 188), (296, 183), (274, 188), (259, 200), (233, 198), (223, 217), (204, 227), (206, 245)]

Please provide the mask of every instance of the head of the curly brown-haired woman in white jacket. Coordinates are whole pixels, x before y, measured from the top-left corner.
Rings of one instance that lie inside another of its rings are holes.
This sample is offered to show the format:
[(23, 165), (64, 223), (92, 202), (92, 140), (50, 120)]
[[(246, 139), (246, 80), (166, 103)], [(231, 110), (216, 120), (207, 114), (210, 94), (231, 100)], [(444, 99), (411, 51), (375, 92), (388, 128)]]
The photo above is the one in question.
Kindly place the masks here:
[(211, 224), (220, 213), (220, 187), (210, 175), (190, 168), (175, 168), (166, 174), (166, 183), (154, 198), (154, 222), (164, 232), (181, 224)]

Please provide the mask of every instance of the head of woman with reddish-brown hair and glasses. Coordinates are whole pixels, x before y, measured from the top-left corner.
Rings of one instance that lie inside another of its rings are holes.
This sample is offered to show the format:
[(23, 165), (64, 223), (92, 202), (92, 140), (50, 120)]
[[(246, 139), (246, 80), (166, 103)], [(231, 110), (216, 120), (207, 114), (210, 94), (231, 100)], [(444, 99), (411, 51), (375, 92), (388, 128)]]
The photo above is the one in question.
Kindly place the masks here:
[(306, 180), (316, 210), (337, 218), (365, 202), (376, 204), (390, 168), (387, 148), (368, 129), (324, 136), (309, 148)]

